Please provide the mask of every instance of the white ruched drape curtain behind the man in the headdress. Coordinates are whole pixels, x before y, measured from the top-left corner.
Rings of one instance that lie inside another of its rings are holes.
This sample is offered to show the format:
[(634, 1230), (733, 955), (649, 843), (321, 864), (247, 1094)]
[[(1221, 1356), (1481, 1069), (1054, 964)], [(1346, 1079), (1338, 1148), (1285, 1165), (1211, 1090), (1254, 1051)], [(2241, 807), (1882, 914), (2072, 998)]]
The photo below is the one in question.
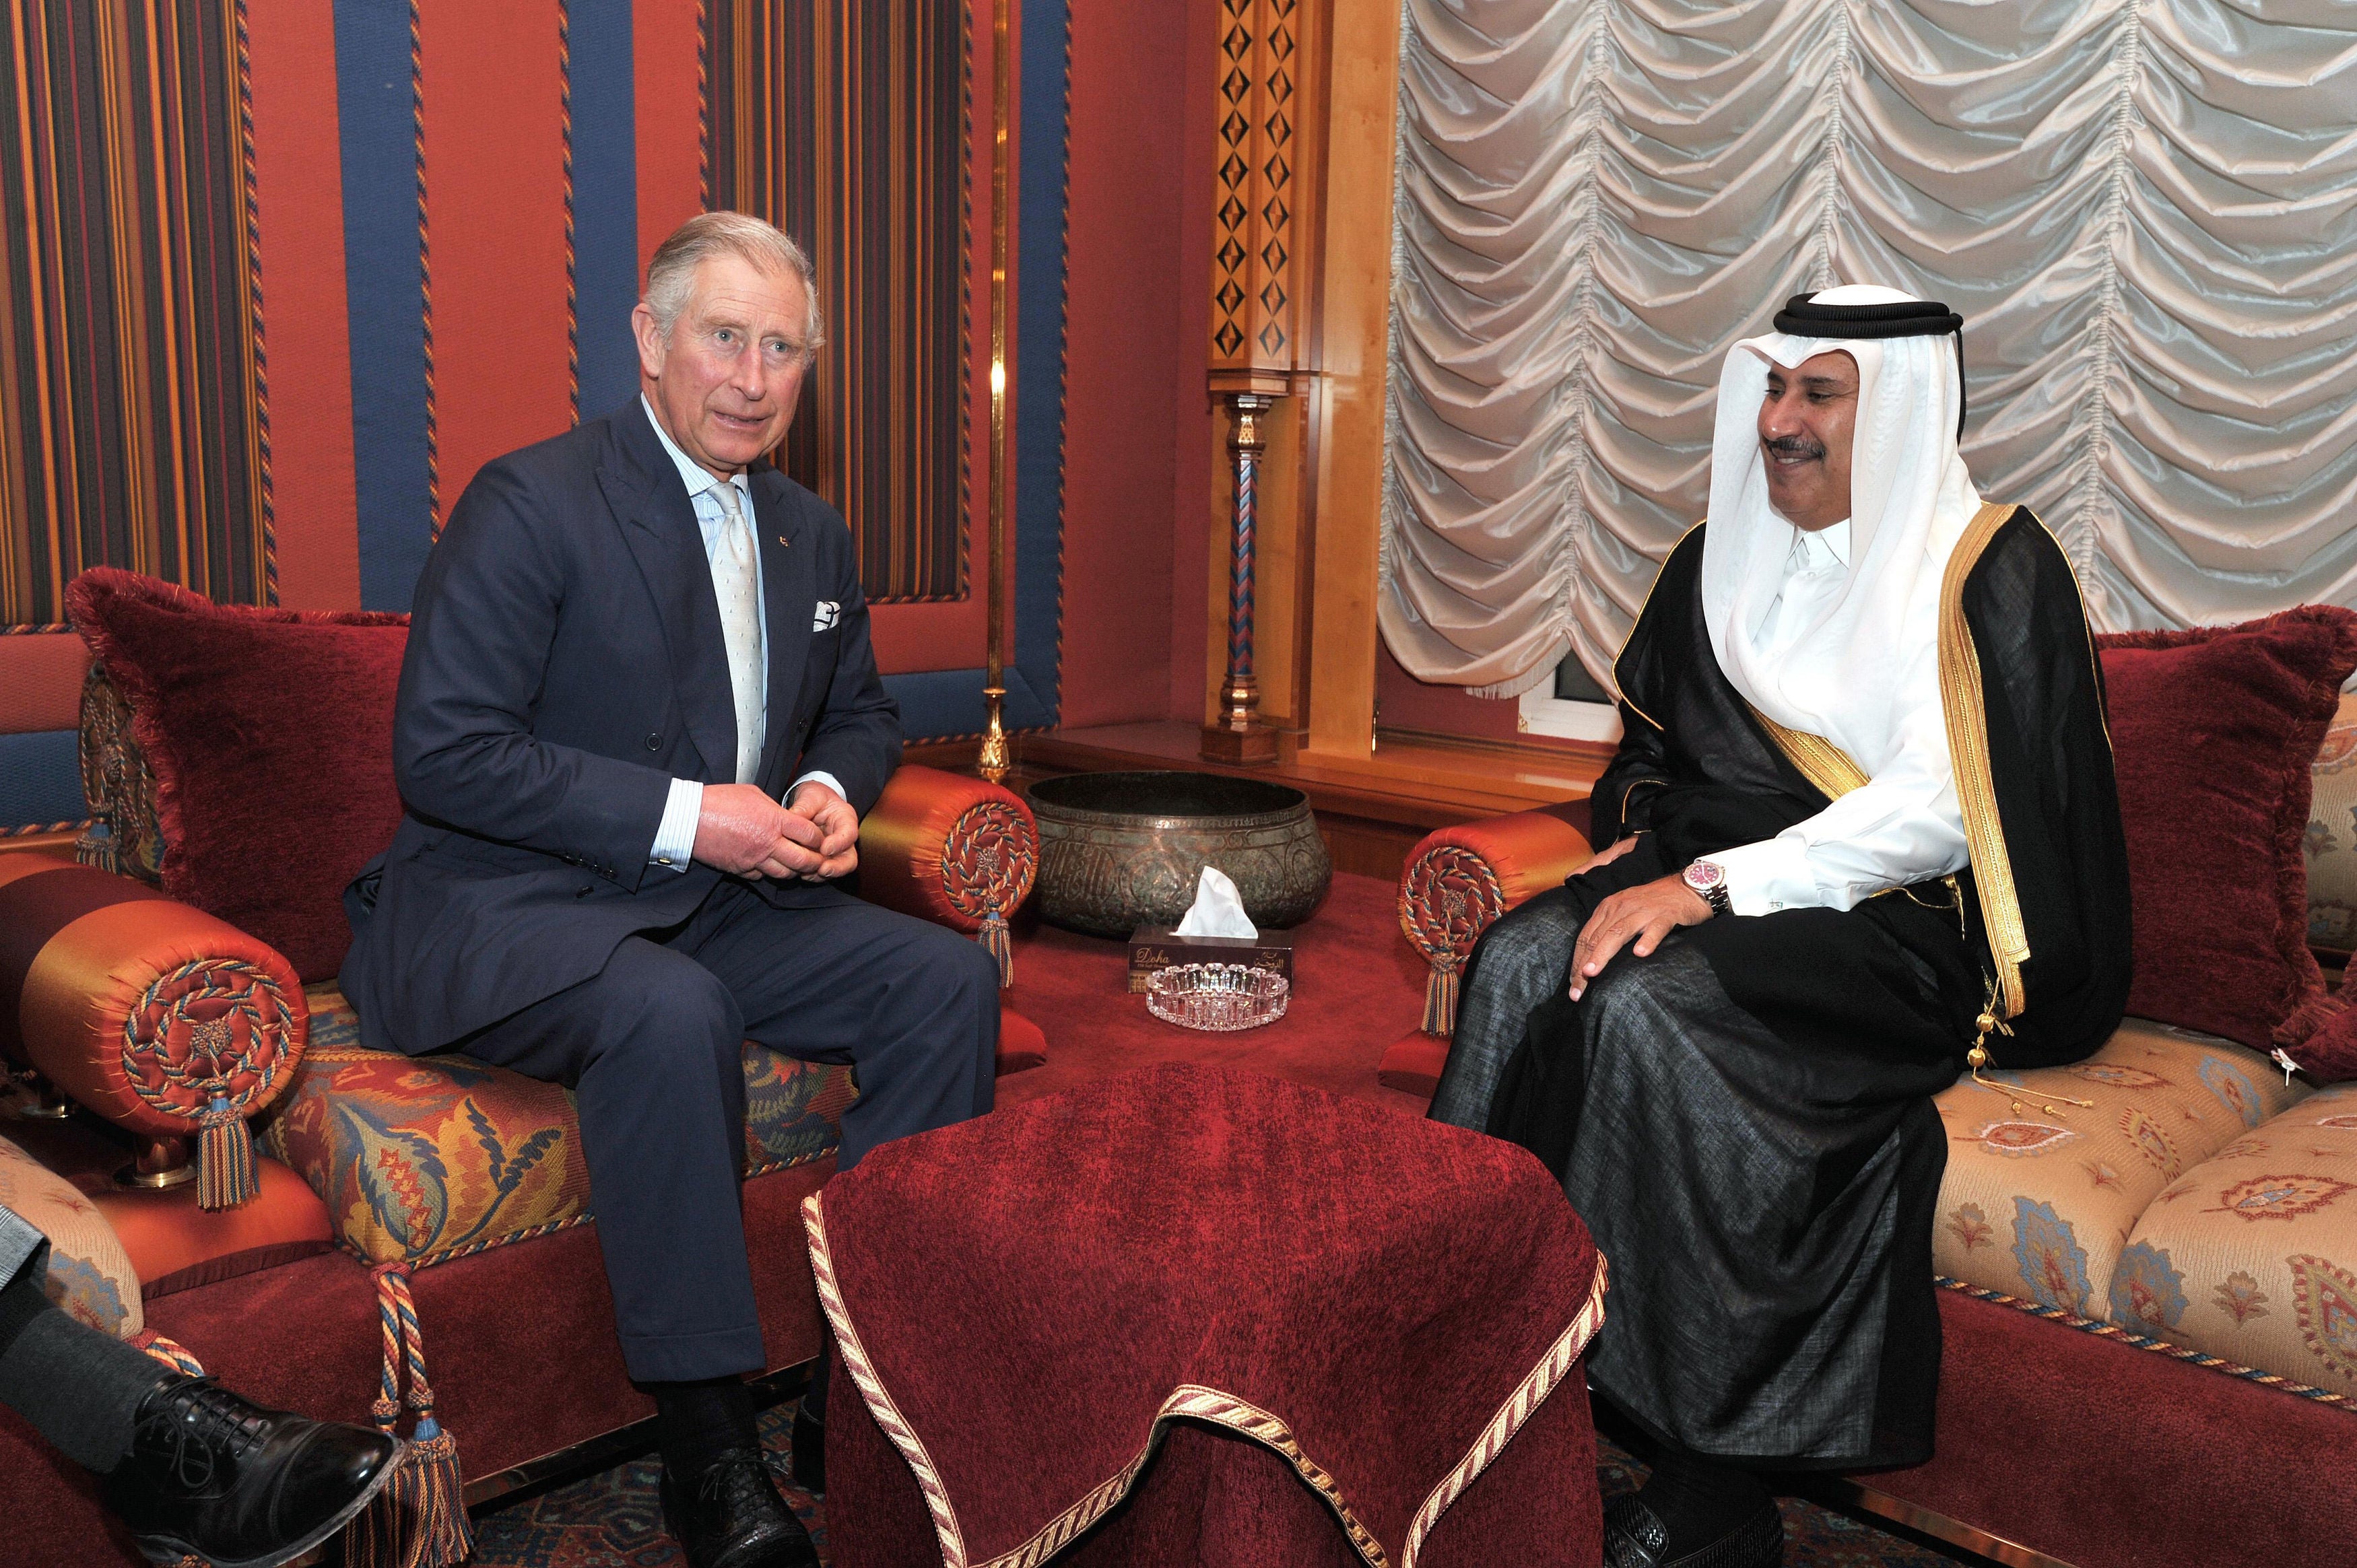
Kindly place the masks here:
[(1381, 627), (1603, 677), (1702, 516), (1728, 347), (1966, 318), (1963, 455), (2105, 630), (2357, 599), (2357, 7), (1405, 0)]

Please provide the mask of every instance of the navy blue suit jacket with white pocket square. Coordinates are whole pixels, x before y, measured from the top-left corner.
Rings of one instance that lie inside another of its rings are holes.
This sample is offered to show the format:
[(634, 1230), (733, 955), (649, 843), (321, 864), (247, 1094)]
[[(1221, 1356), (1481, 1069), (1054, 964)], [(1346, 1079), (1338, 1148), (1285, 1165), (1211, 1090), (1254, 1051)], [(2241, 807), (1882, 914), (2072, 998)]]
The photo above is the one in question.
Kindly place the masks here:
[[(752, 472), (768, 646), (757, 780), (844, 783), (867, 813), (900, 707), (867, 641), (851, 531)], [(832, 627), (813, 630), (832, 599)], [(639, 398), (509, 453), (460, 495), (417, 580), (394, 844), (344, 894), (342, 983), (375, 1049), (431, 1052), (575, 986), (676, 924), (721, 872), (646, 863), (672, 778), (735, 778), (735, 705), (695, 507)], [(754, 882), (771, 903), (832, 898)]]

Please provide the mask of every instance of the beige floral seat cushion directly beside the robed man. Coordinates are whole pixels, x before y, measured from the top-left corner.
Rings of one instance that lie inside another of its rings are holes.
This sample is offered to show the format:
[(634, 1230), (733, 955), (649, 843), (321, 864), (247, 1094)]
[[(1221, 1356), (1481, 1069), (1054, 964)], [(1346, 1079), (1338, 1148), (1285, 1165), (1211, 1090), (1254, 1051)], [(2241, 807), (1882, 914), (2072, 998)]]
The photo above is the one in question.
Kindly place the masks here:
[(2164, 1186), (2310, 1092), (2258, 1052), (2143, 1019), (2088, 1061), (1996, 1078), (2018, 1094), (1966, 1078), (1937, 1099), (1933, 1266), (2081, 1318), (2105, 1316), (2121, 1250)]

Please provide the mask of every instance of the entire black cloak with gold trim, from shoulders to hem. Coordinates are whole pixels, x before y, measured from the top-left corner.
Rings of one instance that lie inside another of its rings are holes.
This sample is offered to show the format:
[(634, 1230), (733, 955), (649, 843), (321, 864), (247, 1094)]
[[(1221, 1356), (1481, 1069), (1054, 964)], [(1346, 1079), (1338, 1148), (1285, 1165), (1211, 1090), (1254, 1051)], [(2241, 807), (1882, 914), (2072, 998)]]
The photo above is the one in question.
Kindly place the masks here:
[[(1622, 648), (1624, 740), (1591, 797), (1622, 858), (1541, 894), (1605, 896), (1770, 839), (1864, 783), (1754, 712), (1702, 613), (1704, 531)], [(1787, 1469), (1930, 1455), (1930, 1099), (1975, 1040), (1999, 1068), (2095, 1052), (2128, 995), (2128, 872), (2102, 670), (2062, 549), (1985, 507), (1942, 594), (1942, 700), (1973, 865), (1850, 910), (1718, 917), (1582, 1000), (1539, 1004), (1487, 1101), (1612, 1259), (1591, 1384), (1655, 1438)], [(1539, 901), (1532, 901), (1539, 903)], [(1480, 983), (1475, 953), (1468, 986)], [(1452, 1073), (1457, 1061), (1452, 1054)], [(1468, 1063), (1471, 1070), (1471, 1063)], [(1447, 1085), (1445, 1085), (1447, 1087)], [(2011, 1089), (1989, 1099), (2008, 1113)]]

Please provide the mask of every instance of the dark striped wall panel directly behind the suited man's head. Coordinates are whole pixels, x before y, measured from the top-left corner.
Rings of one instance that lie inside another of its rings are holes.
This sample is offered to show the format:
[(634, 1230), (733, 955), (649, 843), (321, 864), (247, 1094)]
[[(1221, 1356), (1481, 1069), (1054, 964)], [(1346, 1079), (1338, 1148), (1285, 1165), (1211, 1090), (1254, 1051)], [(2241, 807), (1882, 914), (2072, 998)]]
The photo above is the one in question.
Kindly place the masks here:
[(959, 599), (969, 7), (712, 0), (705, 26), (712, 205), (801, 241), (827, 309), (778, 462), (844, 512), (872, 601)]

